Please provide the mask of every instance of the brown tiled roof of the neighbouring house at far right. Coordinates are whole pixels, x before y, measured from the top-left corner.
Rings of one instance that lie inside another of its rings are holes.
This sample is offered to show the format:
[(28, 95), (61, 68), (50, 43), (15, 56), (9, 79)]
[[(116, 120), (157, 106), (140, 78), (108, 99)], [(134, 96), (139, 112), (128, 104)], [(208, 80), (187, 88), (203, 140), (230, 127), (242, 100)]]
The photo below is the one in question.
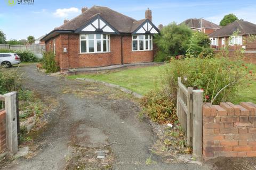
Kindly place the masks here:
[(233, 35), (234, 32), (238, 32), (238, 35), (256, 35), (256, 24), (248, 22), (236, 20), (221, 29), (210, 33), (209, 37), (228, 37)]

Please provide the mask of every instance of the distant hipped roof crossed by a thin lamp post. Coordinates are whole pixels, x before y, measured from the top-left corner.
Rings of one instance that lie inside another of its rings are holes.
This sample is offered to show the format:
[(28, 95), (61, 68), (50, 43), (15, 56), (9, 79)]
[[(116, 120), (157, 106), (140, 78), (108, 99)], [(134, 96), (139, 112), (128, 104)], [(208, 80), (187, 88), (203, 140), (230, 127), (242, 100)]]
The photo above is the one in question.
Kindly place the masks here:
[[(180, 24), (185, 24), (189, 28), (197, 29), (201, 28), (201, 19), (188, 19), (186, 21), (181, 22)], [(207, 21), (205, 19), (202, 19), (202, 28), (221, 28), (220, 25), (217, 25), (215, 23), (212, 23), (210, 21)]]

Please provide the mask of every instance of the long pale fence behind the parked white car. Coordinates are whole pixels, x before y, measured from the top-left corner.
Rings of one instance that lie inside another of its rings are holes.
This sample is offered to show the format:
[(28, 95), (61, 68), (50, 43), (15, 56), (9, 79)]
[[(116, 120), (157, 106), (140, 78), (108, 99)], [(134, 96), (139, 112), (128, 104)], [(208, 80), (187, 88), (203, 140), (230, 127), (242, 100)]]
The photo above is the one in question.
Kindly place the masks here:
[(10, 50), (29, 50), (34, 53), (37, 57), (41, 58), (45, 52), (45, 45), (13, 45), (0, 44), (0, 49), (10, 49)]

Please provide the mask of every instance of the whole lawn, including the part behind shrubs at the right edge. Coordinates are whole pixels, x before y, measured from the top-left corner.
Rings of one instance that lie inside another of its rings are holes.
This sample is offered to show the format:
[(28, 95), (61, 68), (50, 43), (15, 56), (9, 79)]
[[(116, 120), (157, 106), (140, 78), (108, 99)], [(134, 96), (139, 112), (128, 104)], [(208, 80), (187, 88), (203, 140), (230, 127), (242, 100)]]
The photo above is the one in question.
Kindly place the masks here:
[[(248, 70), (252, 70), (255, 74), (256, 65), (248, 64)], [(141, 67), (136, 69), (125, 69), (121, 71), (110, 71), (101, 74), (83, 74), (83, 75), (71, 75), (68, 78), (89, 78), (100, 81), (105, 81), (113, 84), (118, 84), (119, 86), (125, 87), (138, 94), (145, 95), (150, 90), (154, 90), (161, 84), (161, 71), (162, 66), (149, 66)], [(241, 101), (251, 101), (256, 103), (256, 80), (249, 78), (244, 80), (247, 84), (246, 88), (239, 87), (237, 96), (231, 101), (235, 104), (239, 104)]]

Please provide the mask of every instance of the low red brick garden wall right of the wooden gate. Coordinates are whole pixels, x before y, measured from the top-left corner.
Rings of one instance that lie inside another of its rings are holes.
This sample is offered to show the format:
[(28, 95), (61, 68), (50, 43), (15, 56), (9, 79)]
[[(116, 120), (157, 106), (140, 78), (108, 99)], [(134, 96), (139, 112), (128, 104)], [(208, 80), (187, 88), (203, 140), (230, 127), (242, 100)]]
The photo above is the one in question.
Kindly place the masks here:
[(256, 105), (203, 105), (203, 157), (256, 157)]

